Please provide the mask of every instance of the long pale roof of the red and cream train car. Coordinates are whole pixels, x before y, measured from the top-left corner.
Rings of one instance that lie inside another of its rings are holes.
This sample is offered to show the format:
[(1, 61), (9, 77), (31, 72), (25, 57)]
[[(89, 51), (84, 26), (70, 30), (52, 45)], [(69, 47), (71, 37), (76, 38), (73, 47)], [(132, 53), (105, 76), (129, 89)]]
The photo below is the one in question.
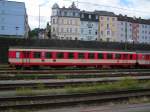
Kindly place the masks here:
[(97, 49), (81, 49), (81, 48), (58, 48), (58, 47), (22, 47), (22, 46), (16, 46), (16, 47), (9, 47), (9, 49), (24, 49), (24, 50), (26, 50), (26, 49), (30, 49), (30, 51), (31, 50), (60, 50), (60, 51), (69, 51), (69, 52), (72, 52), (72, 51), (74, 51), (74, 52), (81, 52), (81, 51), (88, 51), (88, 52), (100, 52), (100, 51), (107, 51), (107, 52), (120, 52), (120, 53), (124, 53), (124, 52), (126, 52), (126, 53), (135, 53), (135, 51), (123, 51), (123, 50), (106, 50), (106, 49), (99, 49), (99, 50), (97, 50)]

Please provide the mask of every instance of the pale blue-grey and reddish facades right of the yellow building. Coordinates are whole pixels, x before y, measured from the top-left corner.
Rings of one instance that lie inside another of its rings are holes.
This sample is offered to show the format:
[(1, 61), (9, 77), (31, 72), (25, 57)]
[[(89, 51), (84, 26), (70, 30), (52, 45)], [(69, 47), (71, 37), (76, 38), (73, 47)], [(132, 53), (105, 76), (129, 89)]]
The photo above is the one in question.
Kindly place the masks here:
[(150, 21), (118, 16), (118, 42), (150, 43)]

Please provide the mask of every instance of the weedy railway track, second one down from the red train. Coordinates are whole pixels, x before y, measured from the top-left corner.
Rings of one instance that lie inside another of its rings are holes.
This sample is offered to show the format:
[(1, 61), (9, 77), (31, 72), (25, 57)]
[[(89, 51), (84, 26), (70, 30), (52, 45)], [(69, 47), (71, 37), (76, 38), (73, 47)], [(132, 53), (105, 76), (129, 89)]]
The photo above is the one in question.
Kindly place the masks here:
[[(1, 72), (1, 71), (0, 71)], [(7, 71), (6, 71), (7, 72)], [(11, 72), (11, 71), (10, 71)], [(24, 71), (26, 72), (26, 71)], [(31, 71), (32, 72), (32, 71)], [(103, 77), (127, 77), (127, 76), (150, 76), (150, 70), (145, 71), (65, 71), (65, 72), (59, 72), (57, 71), (53, 72), (47, 72), (47, 74), (41, 72), (41, 74), (32, 72), (30, 74), (0, 74), (0, 81), (1, 80), (22, 80), (22, 79), (81, 79), (81, 78), (103, 78)]]

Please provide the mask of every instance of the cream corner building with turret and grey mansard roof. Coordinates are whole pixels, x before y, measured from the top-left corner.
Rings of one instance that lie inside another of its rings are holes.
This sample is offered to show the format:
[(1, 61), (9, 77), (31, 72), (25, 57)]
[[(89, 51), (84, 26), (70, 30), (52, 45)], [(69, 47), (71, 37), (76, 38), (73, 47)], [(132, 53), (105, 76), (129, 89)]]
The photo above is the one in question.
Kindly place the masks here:
[(69, 8), (59, 8), (58, 4), (53, 5), (51, 35), (53, 39), (79, 40), (80, 10), (74, 3)]

